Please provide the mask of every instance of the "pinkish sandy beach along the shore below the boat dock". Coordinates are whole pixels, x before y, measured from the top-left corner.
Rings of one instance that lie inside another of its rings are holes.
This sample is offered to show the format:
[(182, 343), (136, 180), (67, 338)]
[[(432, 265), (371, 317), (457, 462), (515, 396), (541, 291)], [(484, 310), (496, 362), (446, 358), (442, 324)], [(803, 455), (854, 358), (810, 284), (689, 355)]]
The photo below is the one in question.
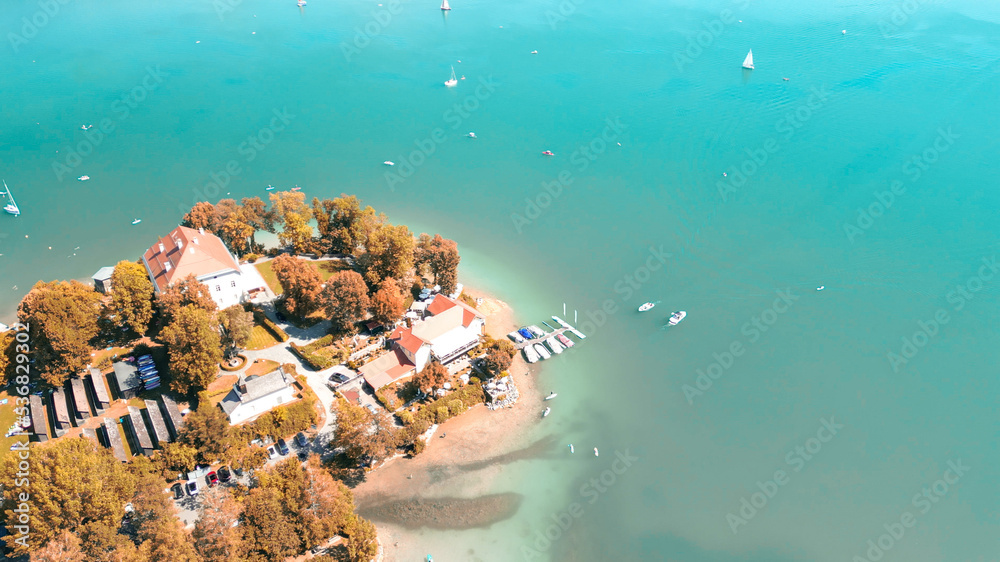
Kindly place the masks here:
[[(480, 291), (467, 292), (484, 299), (478, 308), (487, 315), (488, 334), (504, 338), (517, 328), (506, 303)], [(358, 512), (378, 528), (385, 560), (415, 559), (419, 553), (407, 547), (417, 529), (486, 527), (516, 513), (520, 495), (491, 493), (492, 482), (505, 464), (543, 456), (551, 445), (527, 442), (541, 419), (544, 389), (536, 387), (521, 354), (510, 372), (520, 391), (517, 404), (492, 412), (476, 406), (448, 420), (420, 455), (388, 461), (354, 489)]]

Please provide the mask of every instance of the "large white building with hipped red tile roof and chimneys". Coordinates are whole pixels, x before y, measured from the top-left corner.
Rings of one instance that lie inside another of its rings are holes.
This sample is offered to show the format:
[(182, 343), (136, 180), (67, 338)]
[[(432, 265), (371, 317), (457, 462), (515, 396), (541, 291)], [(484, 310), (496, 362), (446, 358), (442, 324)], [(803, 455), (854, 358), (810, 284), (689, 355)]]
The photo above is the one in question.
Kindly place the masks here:
[(220, 309), (247, 299), (239, 262), (214, 234), (178, 226), (142, 255), (157, 293), (194, 275), (208, 287)]

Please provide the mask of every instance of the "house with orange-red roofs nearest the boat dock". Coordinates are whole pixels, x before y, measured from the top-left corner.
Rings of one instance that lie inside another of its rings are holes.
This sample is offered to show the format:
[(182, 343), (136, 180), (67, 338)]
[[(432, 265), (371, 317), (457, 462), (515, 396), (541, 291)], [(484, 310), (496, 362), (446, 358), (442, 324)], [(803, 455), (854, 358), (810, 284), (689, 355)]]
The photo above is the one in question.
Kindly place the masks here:
[(419, 373), (432, 359), (447, 364), (479, 344), (486, 318), (475, 308), (437, 295), (427, 313), (411, 327), (397, 327), (389, 336), (391, 351), (359, 369), (369, 386), (378, 390)]

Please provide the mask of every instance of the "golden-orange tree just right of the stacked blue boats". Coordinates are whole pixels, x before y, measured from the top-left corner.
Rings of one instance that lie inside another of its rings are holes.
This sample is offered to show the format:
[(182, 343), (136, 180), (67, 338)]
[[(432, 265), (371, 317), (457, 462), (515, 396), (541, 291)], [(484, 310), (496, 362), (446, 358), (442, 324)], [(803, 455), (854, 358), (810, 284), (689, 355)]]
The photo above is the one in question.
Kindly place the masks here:
[(222, 360), (219, 334), (212, 329), (208, 312), (193, 304), (182, 307), (163, 329), (160, 338), (167, 344), (170, 357), (170, 387), (188, 394), (207, 388), (219, 372)]

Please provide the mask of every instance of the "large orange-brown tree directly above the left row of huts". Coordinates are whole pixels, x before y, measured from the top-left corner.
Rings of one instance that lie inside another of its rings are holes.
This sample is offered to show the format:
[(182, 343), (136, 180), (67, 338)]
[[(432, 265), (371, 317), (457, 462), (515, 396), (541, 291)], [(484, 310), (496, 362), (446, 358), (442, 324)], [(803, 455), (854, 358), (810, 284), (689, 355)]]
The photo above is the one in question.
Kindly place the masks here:
[(21, 300), (17, 316), (29, 325), (34, 366), (49, 384), (89, 363), (100, 312), (101, 296), (78, 281), (40, 281)]

